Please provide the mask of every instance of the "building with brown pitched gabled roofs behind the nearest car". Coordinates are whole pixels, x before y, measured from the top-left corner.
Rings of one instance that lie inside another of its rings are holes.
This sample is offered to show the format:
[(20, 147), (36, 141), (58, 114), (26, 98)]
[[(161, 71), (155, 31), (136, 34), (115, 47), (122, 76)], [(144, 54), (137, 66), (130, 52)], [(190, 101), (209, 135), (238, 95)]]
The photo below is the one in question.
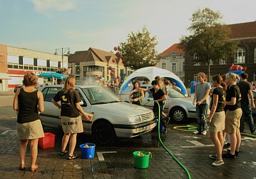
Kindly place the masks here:
[(77, 51), (68, 57), (68, 68), (77, 80), (86, 78), (102, 78), (122, 82), (125, 76), (131, 74), (131, 69), (125, 68), (122, 59), (115, 54), (97, 48)]

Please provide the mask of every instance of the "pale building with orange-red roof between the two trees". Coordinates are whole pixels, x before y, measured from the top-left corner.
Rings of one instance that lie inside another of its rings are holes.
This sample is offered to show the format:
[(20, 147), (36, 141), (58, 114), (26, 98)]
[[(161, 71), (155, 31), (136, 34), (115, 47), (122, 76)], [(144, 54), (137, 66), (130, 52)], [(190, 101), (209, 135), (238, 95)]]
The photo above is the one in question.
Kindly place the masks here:
[(180, 80), (184, 82), (184, 55), (184, 50), (179, 48), (179, 43), (175, 43), (160, 54), (161, 59), (159, 59), (159, 62), (157, 62), (156, 66), (158, 68), (172, 71), (172, 73), (179, 76)]

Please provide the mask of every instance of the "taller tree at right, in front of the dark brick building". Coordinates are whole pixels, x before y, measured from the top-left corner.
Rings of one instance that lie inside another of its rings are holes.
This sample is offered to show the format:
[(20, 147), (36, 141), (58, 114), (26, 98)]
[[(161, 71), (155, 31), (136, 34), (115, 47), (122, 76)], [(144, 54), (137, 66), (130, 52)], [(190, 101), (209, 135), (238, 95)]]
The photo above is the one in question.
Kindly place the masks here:
[(220, 22), (220, 11), (212, 11), (209, 8), (196, 10), (191, 17), (189, 36), (182, 36), (180, 48), (186, 50), (189, 55), (197, 58), (195, 61), (206, 62), (207, 75), (210, 76), (210, 63), (227, 59), (236, 52), (237, 42), (230, 41), (230, 27)]

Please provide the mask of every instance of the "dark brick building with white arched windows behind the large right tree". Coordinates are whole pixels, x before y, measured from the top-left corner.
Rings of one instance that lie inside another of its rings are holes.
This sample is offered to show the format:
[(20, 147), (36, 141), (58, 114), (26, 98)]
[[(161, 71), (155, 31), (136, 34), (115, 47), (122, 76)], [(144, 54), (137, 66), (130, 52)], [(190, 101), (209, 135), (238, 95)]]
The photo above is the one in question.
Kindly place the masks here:
[[(208, 81), (211, 82), (213, 75), (227, 73), (232, 64), (246, 67), (248, 81), (256, 82), (256, 22), (228, 25), (231, 29), (230, 40), (238, 41), (236, 54), (227, 59), (211, 61), (211, 75)], [(185, 52), (185, 85), (189, 87), (190, 82), (197, 81), (197, 73), (207, 74), (207, 64), (195, 62), (196, 54), (189, 55)]]

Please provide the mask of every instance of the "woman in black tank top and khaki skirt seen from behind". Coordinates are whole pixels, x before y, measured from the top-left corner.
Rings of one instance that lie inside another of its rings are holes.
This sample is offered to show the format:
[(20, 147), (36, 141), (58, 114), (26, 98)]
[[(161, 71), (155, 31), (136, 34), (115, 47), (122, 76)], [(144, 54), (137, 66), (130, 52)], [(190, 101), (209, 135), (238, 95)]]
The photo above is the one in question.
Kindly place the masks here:
[(44, 111), (42, 92), (35, 89), (37, 76), (34, 73), (24, 75), (24, 88), (17, 90), (13, 99), (13, 110), (19, 111), (17, 117), (17, 135), (20, 140), (20, 170), (25, 169), (26, 149), (29, 142), (31, 171), (38, 169), (36, 157), (38, 138), (44, 137), (43, 127), (38, 112)]

